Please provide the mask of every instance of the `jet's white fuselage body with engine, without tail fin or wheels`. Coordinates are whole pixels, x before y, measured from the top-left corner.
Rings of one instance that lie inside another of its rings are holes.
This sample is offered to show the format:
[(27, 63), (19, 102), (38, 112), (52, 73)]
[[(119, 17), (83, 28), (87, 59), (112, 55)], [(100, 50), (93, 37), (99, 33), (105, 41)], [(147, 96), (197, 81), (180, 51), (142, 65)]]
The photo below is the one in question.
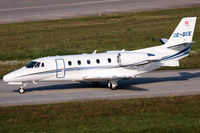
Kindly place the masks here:
[(33, 60), (39, 62), (39, 66), (35, 67), (36, 63), (31, 68), (22, 67), (5, 75), (4, 81), (109, 81), (134, 78), (163, 66), (165, 60), (161, 59), (176, 53), (162, 45), (135, 51), (44, 57)]

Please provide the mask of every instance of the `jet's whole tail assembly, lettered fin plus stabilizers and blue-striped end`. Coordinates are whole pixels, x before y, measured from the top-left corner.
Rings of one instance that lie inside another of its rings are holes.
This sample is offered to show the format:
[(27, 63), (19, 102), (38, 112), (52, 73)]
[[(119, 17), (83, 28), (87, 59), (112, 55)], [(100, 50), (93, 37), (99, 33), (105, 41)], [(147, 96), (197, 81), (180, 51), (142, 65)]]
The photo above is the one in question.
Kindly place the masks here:
[(195, 43), (192, 38), (196, 19), (196, 17), (182, 18), (170, 38), (160, 40), (165, 48), (175, 52), (173, 55), (161, 60), (163, 66), (179, 66), (179, 60), (189, 55), (190, 46)]

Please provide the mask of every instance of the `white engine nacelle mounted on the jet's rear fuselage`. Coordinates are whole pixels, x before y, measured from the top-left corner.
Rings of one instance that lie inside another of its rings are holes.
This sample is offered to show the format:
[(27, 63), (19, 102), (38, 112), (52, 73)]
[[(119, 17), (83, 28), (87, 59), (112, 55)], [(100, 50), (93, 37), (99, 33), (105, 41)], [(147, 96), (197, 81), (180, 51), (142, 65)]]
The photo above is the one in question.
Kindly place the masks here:
[(118, 54), (117, 58), (118, 63), (121, 66), (142, 65), (148, 63), (147, 53), (142, 52), (122, 52)]

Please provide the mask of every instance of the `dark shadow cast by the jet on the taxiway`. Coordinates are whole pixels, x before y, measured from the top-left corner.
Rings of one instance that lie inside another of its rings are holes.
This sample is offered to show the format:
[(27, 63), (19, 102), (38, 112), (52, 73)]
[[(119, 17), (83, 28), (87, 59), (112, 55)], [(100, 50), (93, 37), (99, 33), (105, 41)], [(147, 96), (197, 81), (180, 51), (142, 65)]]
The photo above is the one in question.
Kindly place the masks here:
[[(188, 72), (180, 72), (180, 76), (175, 77), (163, 77), (163, 78), (156, 78), (156, 77), (148, 77), (148, 78), (136, 78), (132, 80), (119, 80), (118, 84), (120, 86), (119, 89), (121, 90), (133, 90), (133, 91), (148, 91), (145, 88), (139, 88), (134, 85), (137, 84), (149, 84), (149, 83), (159, 83), (159, 82), (167, 82), (167, 81), (184, 81), (189, 80), (191, 78), (200, 77), (200, 72), (198, 73), (188, 73)], [(107, 82), (101, 82), (98, 87), (93, 87), (88, 82), (80, 82), (80, 83), (68, 83), (68, 84), (57, 84), (57, 85), (48, 85), (42, 87), (31, 87), (25, 88), (25, 92), (32, 92), (32, 91), (43, 91), (43, 90), (66, 90), (66, 89), (80, 89), (80, 88), (106, 88)], [(18, 92), (18, 90), (14, 90), (14, 92)]]

